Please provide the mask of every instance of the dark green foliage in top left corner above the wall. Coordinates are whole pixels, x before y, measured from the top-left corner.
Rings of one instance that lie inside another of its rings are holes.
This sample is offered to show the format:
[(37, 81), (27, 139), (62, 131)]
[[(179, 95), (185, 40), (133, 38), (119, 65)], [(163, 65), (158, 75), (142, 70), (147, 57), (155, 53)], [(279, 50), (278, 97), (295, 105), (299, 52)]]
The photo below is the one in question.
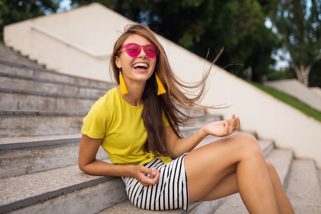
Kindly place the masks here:
[(62, 0), (0, 0), (0, 39), (3, 28), (11, 23), (56, 12)]

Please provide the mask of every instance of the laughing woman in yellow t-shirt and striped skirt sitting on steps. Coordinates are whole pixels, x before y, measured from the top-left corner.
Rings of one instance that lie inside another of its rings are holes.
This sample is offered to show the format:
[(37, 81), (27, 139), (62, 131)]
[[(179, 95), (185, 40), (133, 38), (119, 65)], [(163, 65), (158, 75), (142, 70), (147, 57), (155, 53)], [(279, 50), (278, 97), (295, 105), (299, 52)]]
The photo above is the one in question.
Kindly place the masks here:
[[(118, 85), (84, 118), (81, 170), (122, 177), (129, 200), (143, 209), (189, 210), (192, 202), (239, 192), (250, 213), (294, 213), (256, 139), (229, 136), (239, 128), (238, 117), (209, 123), (187, 138), (180, 134), (179, 126), (191, 118), (182, 109), (214, 108), (198, 104), (210, 69), (195, 86), (185, 86), (154, 33), (133, 24), (114, 45), (110, 71)], [(200, 90), (191, 99), (182, 88)], [(207, 135), (224, 138), (194, 149)], [(99, 146), (111, 164), (96, 159)]]

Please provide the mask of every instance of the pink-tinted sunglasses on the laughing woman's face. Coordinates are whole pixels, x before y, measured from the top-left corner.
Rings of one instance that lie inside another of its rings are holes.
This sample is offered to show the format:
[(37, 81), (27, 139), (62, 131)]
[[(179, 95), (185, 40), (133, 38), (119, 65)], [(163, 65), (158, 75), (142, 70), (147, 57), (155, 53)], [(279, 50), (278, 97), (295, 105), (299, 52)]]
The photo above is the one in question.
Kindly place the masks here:
[(126, 53), (131, 57), (136, 57), (141, 53), (141, 49), (144, 48), (144, 52), (150, 58), (155, 58), (158, 53), (159, 49), (156, 45), (137, 45), (136, 43), (128, 43), (124, 45), (121, 50), (118, 51), (118, 55), (122, 52), (125, 48)]

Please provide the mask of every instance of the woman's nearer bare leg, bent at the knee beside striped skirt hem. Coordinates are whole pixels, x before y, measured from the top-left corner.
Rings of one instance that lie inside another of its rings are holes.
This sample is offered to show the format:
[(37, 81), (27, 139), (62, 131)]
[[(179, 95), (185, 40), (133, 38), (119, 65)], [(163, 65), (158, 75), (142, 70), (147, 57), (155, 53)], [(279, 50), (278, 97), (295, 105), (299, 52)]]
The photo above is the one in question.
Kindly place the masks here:
[(279, 213), (277, 200), (283, 198), (275, 196), (262, 149), (249, 134), (231, 135), (191, 151), (185, 168), (190, 202), (239, 192), (250, 213)]

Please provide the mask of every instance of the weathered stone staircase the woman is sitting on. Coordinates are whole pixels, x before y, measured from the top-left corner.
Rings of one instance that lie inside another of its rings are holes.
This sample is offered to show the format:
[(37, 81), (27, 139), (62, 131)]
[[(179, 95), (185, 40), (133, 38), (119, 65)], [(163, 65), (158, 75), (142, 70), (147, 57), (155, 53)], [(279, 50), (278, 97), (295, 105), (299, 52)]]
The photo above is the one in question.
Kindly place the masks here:
[[(77, 167), (83, 117), (113, 84), (46, 70), (0, 44), (0, 213), (248, 213), (239, 194), (184, 210), (134, 207), (119, 178), (90, 176)], [(202, 124), (220, 120), (208, 115)], [(254, 134), (254, 133), (253, 133)], [(216, 140), (207, 137), (199, 146)], [(259, 140), (287, 190), (296, 213), (321, 213), (313, 161)], [(108, 160), (99, 149), (97, 159)]]

